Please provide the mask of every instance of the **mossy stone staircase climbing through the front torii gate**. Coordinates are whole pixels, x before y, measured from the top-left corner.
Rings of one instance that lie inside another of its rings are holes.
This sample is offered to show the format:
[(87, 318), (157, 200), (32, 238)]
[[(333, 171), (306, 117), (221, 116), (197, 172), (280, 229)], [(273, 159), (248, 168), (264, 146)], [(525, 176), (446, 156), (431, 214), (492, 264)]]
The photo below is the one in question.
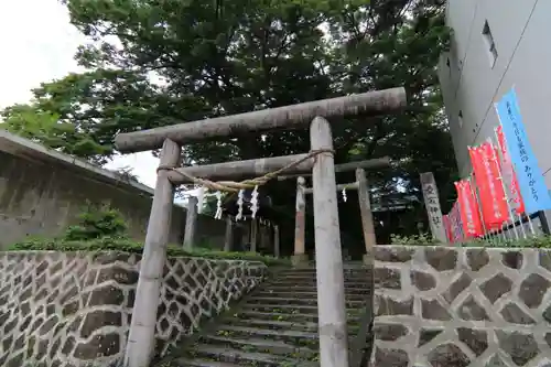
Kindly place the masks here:
[[(350, 345), (359, 330), (368, 280), (360, 265), (346, 267)], [(283, 270), (194, 336), (169, 366), (318, 366), (316, 296), (314, 267)]]

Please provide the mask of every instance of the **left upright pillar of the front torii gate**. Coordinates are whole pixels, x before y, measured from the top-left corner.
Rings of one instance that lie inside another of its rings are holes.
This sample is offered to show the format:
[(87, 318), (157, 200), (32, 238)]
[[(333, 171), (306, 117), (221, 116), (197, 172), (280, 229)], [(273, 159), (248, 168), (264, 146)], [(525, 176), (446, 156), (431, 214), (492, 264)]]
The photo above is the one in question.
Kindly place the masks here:
[[(161, 165), (176, 166), (180, 154), (180, 145), (166, 139), (161, 152)], [(140, 278), (125, 354), (126, 367), (148, 367), (154, 354), (156, 307), (166, 261), (173, 199), (174, 186), (169, 181), (168, 172), (160, 170), (156, 174), (155, 193), (140, 263)]]

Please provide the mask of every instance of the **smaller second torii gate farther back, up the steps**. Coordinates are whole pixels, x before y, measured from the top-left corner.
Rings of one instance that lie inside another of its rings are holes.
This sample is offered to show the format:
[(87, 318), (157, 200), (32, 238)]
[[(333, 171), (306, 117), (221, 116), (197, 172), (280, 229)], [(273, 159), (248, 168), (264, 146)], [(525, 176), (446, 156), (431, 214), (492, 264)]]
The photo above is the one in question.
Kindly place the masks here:
[[(367, 185), (367, 177), (365, 170), (374, 170), (387, 168), (390, 165), (390, 158), (383, 156), (367, 161), (349, 162), (344, 164), (335, 165), (335, 172), (348, 172), (356, 171), (356, 182), (349, 184), (339, 184), (336, 190), (357, 190), (359, 195), (360, 215), (361, 215), (361, 226), (364, 229), (364, 241), (366, 246), (366, 255), (364, 256), (364, 262), (369, 265), (370, 253), (376, 245), (375, 239), (375, 227), (372, 222), (371, 207), (369, 202), (369, 188)], [(305, 176), (305, 175), (304, 175)], [(313, 190), (305, 187), (304, 176), (299, 176), (296, 179), (296, 214), (295, 214), (295, 226), (294, 226), (294, 255), (291, 257), (291, 261), (294, 267), (301, 267), (309, 261), (309, 257), (305, 253), (305, 216), (306, 216), (306, 194), (312, 194)], [(287, 175), (282, 180), (291, 179), (292, 175)]]

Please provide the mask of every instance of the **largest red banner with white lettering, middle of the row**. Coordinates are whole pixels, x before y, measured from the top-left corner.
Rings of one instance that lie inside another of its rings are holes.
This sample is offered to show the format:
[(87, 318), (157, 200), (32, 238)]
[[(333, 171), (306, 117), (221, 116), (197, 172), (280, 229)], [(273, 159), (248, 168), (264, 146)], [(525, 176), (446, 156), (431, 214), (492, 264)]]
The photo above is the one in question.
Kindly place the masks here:
[(499, 229), (509, 219), (509, 214), (504, 186), (499, 179), (496, 151), (491, 143), (485, 142), (479, 147), (469, 148), (468, 153), (478, 186), (486, 229)]

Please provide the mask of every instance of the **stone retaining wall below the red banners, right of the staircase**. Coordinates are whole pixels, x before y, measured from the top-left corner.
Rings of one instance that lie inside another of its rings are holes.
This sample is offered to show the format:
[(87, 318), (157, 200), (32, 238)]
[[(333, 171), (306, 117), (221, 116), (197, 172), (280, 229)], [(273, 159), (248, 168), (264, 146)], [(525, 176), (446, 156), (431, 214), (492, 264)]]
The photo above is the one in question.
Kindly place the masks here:
[(551, 251), (378, 246), (377, 367), (550, 367)]

